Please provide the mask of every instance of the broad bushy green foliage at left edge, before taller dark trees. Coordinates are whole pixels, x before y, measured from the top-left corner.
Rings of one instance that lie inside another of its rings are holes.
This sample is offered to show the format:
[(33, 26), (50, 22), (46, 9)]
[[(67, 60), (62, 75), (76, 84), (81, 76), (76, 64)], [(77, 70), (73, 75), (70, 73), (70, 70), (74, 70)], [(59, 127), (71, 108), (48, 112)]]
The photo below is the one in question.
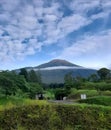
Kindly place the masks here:
[(29, 84), (22, 75), (9, 71), (0, 72), (0, 96), (17, 95), (19, 92), (25, 94), (28, 93), (29, 88)]

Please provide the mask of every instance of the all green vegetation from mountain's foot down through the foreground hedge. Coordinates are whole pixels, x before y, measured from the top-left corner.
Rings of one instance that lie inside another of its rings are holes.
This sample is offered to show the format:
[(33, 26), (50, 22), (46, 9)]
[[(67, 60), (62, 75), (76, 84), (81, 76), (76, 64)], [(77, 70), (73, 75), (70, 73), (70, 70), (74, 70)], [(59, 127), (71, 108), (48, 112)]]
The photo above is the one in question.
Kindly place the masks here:
[[(0, 129), (111, 129), (110, 71), (100, 69), (87, 79), (68, 73), (64, 79), (64, 84), (45, 85), (40, 74), (34, 70), (0, 72)], [(32, 100), (37, 94), (44, 94), (45, 99), (67, 97), (76, 103), (78, 101), (78, 104), (60, 105)], [(81, 94), (86, 94), (87, 99), (80, 100)]]

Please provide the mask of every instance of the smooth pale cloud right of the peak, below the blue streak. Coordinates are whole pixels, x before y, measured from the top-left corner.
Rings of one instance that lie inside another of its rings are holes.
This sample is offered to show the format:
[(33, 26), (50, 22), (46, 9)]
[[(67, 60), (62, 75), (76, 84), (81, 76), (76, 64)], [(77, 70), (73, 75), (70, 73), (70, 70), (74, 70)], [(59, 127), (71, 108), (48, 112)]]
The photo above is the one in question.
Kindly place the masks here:
[[(64, 48), (59, 58), (90, 59), (92, 62), (103, 62), (110, 64), (111, 58), (111, 30), (102, 31), (98, 34), (83, 36), (71, 46)], [(95, 63), (96, 64), (96, 63)], [(98, 64), (98, 63), (97, 63)]]

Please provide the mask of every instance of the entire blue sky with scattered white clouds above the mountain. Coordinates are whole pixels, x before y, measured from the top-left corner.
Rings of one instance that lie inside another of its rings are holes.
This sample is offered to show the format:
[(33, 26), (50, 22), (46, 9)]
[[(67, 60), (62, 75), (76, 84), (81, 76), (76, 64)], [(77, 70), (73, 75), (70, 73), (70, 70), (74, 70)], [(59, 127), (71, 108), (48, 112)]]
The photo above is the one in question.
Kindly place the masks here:
[(111, 67), (111, 0), (0, 0), (0, 70), (52, 59)]

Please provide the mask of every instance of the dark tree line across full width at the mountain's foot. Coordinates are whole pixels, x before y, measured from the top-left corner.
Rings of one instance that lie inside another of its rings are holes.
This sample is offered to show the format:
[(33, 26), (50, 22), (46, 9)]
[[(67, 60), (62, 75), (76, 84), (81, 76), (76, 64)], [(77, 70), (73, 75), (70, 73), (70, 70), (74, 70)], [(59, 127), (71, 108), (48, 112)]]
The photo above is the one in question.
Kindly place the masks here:
[[(88, 82), (88, 83), (87, 83)], [(2, 71), (0, 72), (0, 96), (19, 96), (35, 98), (36, 94), (43, 93), (46, 86), (55, 89), (55, 97), (59, 95), (67, 96), (70, 94), (71, 88), (81, 89), (81, 87), (92, 85), (97, 82), (110, 82), (111, 73), (107, 68), (101, 68), (97, 73), (90, 75), (88, 78), (80, 76), (73, 77), (72, 73), (68, 73), (64, 77), (62, 84), (43, 85), (41, 75), (34, 70), (27, 70), (25, 68), (16, 71)], [(45, 86), (45, 87), (44, 87)], [(92, 85), (93, 86), (93, 85)], [(101, 86), (98, 87), (98, 89)], [(107, 89), (104, 86), (101, 89)], [(109, 86), (108, 86), (109, 89)]]

